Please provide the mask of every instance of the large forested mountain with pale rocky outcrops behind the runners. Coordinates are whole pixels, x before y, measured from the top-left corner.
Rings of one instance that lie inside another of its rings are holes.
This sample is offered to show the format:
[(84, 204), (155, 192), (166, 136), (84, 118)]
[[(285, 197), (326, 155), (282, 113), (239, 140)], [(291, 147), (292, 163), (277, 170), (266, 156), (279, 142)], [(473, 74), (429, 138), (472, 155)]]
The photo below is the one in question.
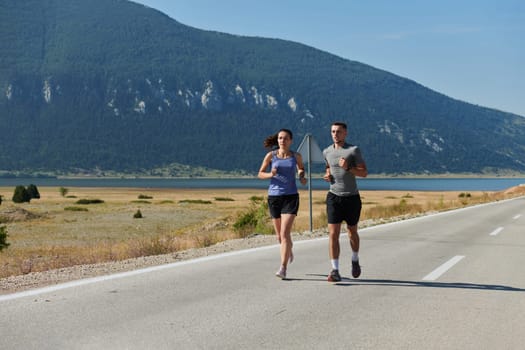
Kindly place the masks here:
[(0, 23), (3, 170), (256, 172), (267, 135), (323, 147), (337, 119), (371, 173), (525, 171), (525, 118), (300, 43), (122, 0), (2, 1)]

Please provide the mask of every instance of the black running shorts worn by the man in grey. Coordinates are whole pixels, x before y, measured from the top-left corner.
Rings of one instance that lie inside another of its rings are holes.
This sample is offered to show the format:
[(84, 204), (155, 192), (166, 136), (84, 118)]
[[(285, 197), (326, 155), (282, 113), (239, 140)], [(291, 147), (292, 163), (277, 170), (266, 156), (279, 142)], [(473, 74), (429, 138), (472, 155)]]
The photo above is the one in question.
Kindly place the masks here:
[(332, 192), (326, 195), (326, 216), (329, 224), (340, 224), (346, 221), (348, 226), (355, 226), (361, 216), (361, 197), (337, 196)]

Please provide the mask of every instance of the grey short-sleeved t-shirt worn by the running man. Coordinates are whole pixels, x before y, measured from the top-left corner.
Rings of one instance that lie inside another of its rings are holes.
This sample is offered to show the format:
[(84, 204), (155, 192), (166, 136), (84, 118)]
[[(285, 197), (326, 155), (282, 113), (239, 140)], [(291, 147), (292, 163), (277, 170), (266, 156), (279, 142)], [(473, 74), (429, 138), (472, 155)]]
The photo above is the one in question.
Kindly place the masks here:
[(333, 177), (330, 192), (337, 196), (359, 194), (354, 174), (339, 166), (341, 157), (346, 159), (350, 167), (364, 163), (359, 147), (345, 143), (342, 148), (335, 149), (334, 145), (330, 145), (323, 150), (323, 156)]

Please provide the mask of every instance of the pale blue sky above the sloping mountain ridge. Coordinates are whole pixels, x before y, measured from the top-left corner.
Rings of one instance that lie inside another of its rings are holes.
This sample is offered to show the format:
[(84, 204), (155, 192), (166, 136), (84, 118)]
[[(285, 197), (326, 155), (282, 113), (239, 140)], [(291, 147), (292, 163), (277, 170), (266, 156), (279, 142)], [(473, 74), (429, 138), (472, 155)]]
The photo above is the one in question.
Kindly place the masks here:
[(135, 0), (199, 29), (300, 42), (525, 116), (523, 0)]

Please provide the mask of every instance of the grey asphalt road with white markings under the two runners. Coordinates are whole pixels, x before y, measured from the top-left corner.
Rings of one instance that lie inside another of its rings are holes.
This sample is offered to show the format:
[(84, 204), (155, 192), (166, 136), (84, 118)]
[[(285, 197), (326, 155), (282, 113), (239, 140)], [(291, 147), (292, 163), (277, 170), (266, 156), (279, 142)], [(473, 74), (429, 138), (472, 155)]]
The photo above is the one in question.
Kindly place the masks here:
[(523, 349), (525, 198), (0, 296), (0, 349)]

